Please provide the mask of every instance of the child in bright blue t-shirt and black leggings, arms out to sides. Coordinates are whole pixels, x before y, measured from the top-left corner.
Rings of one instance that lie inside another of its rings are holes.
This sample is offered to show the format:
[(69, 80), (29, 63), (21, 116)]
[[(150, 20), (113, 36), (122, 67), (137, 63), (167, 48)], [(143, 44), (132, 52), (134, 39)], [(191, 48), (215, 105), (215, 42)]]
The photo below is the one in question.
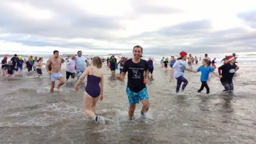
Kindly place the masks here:
[(201, 71), (201, 87), (200, 89), (197, 91), (198, 93), (200, 93), (201, 91), (203, 91), (204, 87), (206, 88), (206, 94), (210, 93), (210, 89), (209, 86), (207, 85), (207, 81), (209, 78), (209, 73), (213, 73), (215, 76), (219, 77), (218, 74), (214, 73), (213, 68), (211, 66), (209, 66), (210, 61), (208, 59), (203, 59), (202, 61), (203, 66), (199, 67), (197, 70), (193, 71), (194, 73), (197, 73), (199, 71)]

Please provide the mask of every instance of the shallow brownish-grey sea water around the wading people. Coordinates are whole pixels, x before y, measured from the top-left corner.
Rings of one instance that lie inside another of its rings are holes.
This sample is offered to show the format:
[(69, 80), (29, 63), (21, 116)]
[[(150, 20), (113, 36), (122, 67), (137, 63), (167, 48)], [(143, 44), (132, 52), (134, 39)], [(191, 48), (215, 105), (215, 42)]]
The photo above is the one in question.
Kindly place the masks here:
[[(206, 90), (198, 94), (201, 74), (188, 71), (185, 91), (175, 93), (177, 81), (170, 82), (171, 68), (159, 65), (162, 57), (170, 59), (172, 55), (177, 57), (177, 54), (143, 55), (143, 59), (155, 60), (154, 73), (147, 84), (150, 108), (143, 117), (139, 103), (131, 121), (127, 116), (127, 75), (124, 81), (118, 81), (115, 76), (119, 70), (111, 75), (106, 62), (103, 63), (105, 92), (103, 101), (97, 103), (97, 115), (105, 117), (105, 124), (93, 122), (83, 110), (86, 78), (78, 92), (74, 92), (76, 79), (70, 79), (59, 92), (50, 93), (51, 82), (45, 67), (43, 76), (36, 78), (35, 71), (24, 70), (22, 75), (12, 78), (1, 74), (0, 143), (256, 143), (256, 55), (238, 54), (240, 69), (233, 79), (233, 95), (223, 93), (220, 79), (212, 75), (207, 82), (210, 94)], [(204, 54), (195, 55), (203, 58)], [(209, 57), (217, 59), (218, 68), (225, 55), (209, 54)], [(8, 60), (12, 57), (7, 56)], [(43, 57), (44, 62), (51, 57), (35, 56)], [(28, 59), (29, 55), (22, 57)], [(193, 69), (201, 65), (199, 61)], [(64, 77), (65, 71), (63, 63)]]

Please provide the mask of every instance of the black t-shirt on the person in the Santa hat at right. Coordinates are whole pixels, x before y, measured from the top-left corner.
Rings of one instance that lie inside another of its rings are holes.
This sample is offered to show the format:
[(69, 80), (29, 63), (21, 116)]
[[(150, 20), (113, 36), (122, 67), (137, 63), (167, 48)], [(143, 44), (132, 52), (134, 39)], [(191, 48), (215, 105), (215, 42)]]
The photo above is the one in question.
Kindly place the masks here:
[(220, 81), (231, 81), (236, 72), (236, 70), (235, 70), (236, 65), (235, 65), (235, 63), (233, 65), (226, 63), (226, 64), (220, 66), (219, 69), (221, 69), (221, 71), (222, 71), (221, 72), (222, 78), (220, 79)]

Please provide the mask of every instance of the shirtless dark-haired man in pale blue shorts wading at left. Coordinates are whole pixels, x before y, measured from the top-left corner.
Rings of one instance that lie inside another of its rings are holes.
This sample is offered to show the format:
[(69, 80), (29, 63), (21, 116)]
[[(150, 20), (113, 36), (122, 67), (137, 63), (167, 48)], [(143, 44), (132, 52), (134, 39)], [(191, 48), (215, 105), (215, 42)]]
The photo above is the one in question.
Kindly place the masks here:
[[(49, 66), (52, 67), (51, 70), (49, 70)], [(59, 51), (57, 51), (57, 50), (53, 51), (53, 57), (47, 61), (45, 67), (46, 67), (47, 73), (50, 75), (50, 79), (52, 82), (51, 92), (54, 91), (53, 89), (54, 89), (55, 81), (57, 81), (57, 80), (60, 81), (60, 83), (57, 87), (57, 89), (60, 90), (60, 86), (65, 83), (65, 80), (64, 80), (64, 77), (60, 73), (61, 59), (59, 58)]]

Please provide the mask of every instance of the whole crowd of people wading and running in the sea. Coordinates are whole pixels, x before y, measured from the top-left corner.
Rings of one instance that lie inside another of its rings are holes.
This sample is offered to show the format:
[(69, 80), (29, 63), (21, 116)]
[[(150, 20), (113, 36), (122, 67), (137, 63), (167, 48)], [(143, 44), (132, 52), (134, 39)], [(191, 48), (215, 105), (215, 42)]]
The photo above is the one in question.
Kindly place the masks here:
[[(129, 107), (129, 118), (132, 119), (134, 115), (135, 106), (141, 101), (142, 109), (141, 115), (145, 115), (149, 109), (149, 95), (147, 92), (147, 86), (149, 73), (152, 75), (154, 70), (153, 58), (149, 58), (147, 61), (141, 59), (143, 53), (143, 48), (139, 45), (133, 47), (133, 58), (127, 59), (127, 57), (121, 57), (121, 60), (117, 62), (117, 59), (113, 55), (111, 58), (107, 59), (107, 65), (111, 70), (112, 74), (115, 74), (117, 65), (119, 65), (120, 75), (116, 78), (119, 81), (123, 81), (127, 74), (127, 86), (126, 94), (130, 103)], [(199, 58), (201, 60), (201, 58)], [(197, 92), (201, 92), (204, 87), (206, 88), (206, 93), (210, 93), (210, 88), (207, 85), (209, 74), (213, 73), (215, 76), (220, 78), (220, 82), (224, 87), (226, 93), (232, 93), (234, 90), (233, 86), (233, 76), (239, 67), (235, 64), (236, 55), (230, 55), (225, 58), (225, 64), (218, 68), (218, 73), (214, 72), (214, 67), (212, 67), (211, 59), (205, 54), (205, 58), (202, 60), (202, 66), (197, 70), (194, 70), (191, 63), (194, 61), (198, 63), (198, 59), (193, 58), (191, 54), (187, 57), (187, 52), (180, 52), (180, 56), (175, 59), (174, 56), (169, 59), (164, 58), (161, 60), (163, 67), (167, 68), (170, 62), (171, 66), (171, 81), (173, 78), (177, 79), (176, 92), (183, 92), (188, 84), (187, 79), (184, 77), (185, 70), (194, 73), (201, 72), (201, 87)], [(104, 74), (102, 71), (102, 59), (100, 57), (93, 57), (90, 60), (86, 59), (82, 55), (82, 51), (78, 51), (77, 54), (71, 55), (70, 58), (66, 59), (66, 81), (69, 77), (75, 78), (77, 73), (77, 84), (75, 85), (75, 92), (79, 89), (79, 84), (84, 81), (87, 76), (87, 84), (85, 87), (84, 98), (83, 98), (83, 109), (87, 115), (89, 115), (95, 122), (101, 123), (101, 116), (97, 116), (95, 113), (95, 106), (98, 100), (103, 100), (104, 94)], [(23, 66), (25, 63), (25, 66)], [(161, 63), (161, 64), (162, 64)], [(215, 63), (215, 61), (214, 61)], [(26, 62), (22, 60), (22, 57), (18, 57), (14, 54), (14, 57), (7, 62), (7, 57), (2, 60), (2, 70), (3, 76), (10, 77), (13, 75), (14, 71), (19, 74), (22, 73), (23, 68), (27, 68), (37, 71), (38, 76), (42, 76), (42, 65), (46, 65), (47, 73), (50, 75), (51, 88), (50, 92), (54, 92), (55, 81), (59, 80), (57, 89), (60, 90), (61, 85), (65, 83), (65, 78), (61, 74), (62, 59), (59, 58), (59, 51), (53, 51), (53, 57), (49, 58), (46, 63), (43, 63), (43, 58), (33, 59), (30, 57)], [(181, 86), (183, 82), (183, 85)]]

